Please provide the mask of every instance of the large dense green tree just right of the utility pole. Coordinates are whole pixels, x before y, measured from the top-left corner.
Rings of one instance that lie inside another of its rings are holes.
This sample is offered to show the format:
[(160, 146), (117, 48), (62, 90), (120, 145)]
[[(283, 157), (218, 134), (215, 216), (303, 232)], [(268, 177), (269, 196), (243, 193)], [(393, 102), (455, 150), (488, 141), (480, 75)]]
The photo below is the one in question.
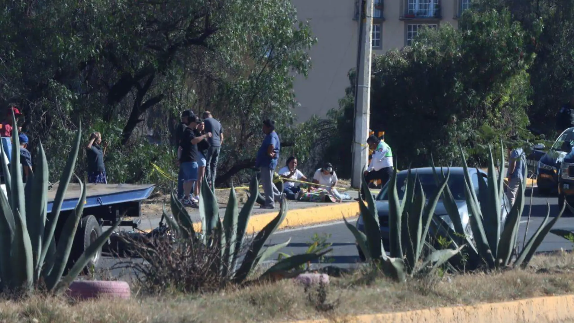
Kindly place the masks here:
[[(484, 126), (503, 137), (523, 129), (528, 124), (527, 70), (534, 59), (525, 51), (529, 39), (507, 10), (468, 12), (458, 30), (450, 25), (426, 29), (412, 46), (376, 56), (370, 124), (385, 130), (398, 167), (428, 166), (431, 157), (439, 165), (451, 164), (459, 143), (480, 163)], [(351, 88), (341, 101), (343, 111), (336, 117), (346, 123), (339, 128), (350, 126), (353, 95)], [(351, 140), (338, 137), (333, 143), (348, 151)], [(350, 164), (339, 168), (350, 169)]]

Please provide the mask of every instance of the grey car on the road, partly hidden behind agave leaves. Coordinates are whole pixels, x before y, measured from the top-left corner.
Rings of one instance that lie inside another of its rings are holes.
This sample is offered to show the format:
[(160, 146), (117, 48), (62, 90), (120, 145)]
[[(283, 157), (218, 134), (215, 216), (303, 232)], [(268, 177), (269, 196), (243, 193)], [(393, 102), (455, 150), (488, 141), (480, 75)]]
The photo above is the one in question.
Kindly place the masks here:
[[(450, 171), (450, 175), (448, 178), (448, 187), (451, 190), (453, 198), (455, 198), (456, 205), (459, 209), (460, 220), (462, 221), (463, 227), (465, 228), (466, 234), (472, 238), (472, 230), (470, 228), (470, 222), (468, 221), (468, 208), (466, 197), (464, 195), (464, 168), (463, 167), (449, 167), (448, 170)], [(436, 171), (438, 174), (443, 171), (446, 173), (447, 168), (437, 167)], [(432, 196), (437, 188), (435, 175), (433, 174), (432, 168), (425, 167), (425, 168), (413, 168), (411, 170), (412, 174), (417, 175), (417, 179), (420, 181), (422, 185), (422, 190), (425, 193), (425, 196), (428, 198)], [(484, 180), (487, 182), (487, 174), (482, 170), (476, 170), (476, 168), (468, 168), (468, 172), (470, 174), (472, 188), (476, 192), (476, 196), (479, 197), (478, 194), (478, 181)], [(399, 200), (402, 200), (405, 194), (405, 186), (406, 186), (406, 177), (408, 171), (400, 171), (397, 174), (397, 193)], [(383, 240), (383, 247), (388, 249), (389, 247), (389, 195), (387, 194), (387, 186), (388, 183), (383, 186), (377, 197), (375, 197), (375, 203), (377, 205), (377, 213), (379, 216), (379, 225), (381, 227), (381, 237)], [(428, 199), (426, 200), (428, 202)], [(480, 202), (480, 200), (479, 200)], [(501, 213), (501, 223), (504, 225), (506, 221), (506, 216), (508, 211), (510, 210), (509, 207), (510, 203), (506, 198), (506, 195), (503, 195), (503, 205), (502, 205), (502, 213)], [(441, 217), (452, 229), (454, 226), (452, 224), (451, 218), (448, 216), (447, 210), (444, 207), (442, 199), (439, 200), (437, 203), (435, 214)], [(364, 223), (362, 216), (359, 216), (356, 222), (356, 228), (359, 229), (361, 232), (364, 233)], [(360, 251), (360, 248), (357, 246), (359, 251), (359, 257), (361, 260), (364, 261), (364, 255)]]

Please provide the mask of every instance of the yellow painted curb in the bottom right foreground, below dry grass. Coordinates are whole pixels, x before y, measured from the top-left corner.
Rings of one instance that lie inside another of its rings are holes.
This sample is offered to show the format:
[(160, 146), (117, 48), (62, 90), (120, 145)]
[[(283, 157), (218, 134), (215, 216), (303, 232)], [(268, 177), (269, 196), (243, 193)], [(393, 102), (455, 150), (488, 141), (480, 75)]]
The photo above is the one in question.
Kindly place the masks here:
[(292, 321), (290, 323), (554, 323), (573, 318), (574, 295), (564, 295), (474, 306), (440, 307), (410, 312), (336, 317), (336, 321), (321, 319)]

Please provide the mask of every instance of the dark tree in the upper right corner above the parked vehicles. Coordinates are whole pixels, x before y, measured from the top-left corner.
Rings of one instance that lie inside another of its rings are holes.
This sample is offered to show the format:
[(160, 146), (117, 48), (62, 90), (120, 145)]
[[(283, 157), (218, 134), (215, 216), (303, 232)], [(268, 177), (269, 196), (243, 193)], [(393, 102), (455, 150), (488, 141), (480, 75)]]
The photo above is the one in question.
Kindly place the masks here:
[[(475, 10), (507, 8), (534, 41), (526, 49), (536, 54), (530, 84), (533, 127), (554, 135), (555, 116), (574, 93), (574, 6), (571, 0), (484, 0)], [(541, 28), (539, 21), (544, 22)], [(554, 138), (554, 136), (552, 136)]]

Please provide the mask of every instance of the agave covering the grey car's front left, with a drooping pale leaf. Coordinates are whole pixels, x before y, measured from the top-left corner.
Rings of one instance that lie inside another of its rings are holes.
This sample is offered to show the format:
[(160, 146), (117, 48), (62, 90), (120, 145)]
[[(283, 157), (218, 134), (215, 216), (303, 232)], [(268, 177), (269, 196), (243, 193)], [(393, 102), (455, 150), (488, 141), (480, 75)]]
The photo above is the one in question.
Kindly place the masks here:
[(362, 189), (367, 205), (359, 196), (359, 209), (363, 217), (366, 234), (360, 232), (346, 219), (343, 218), (343, 220), (355, 236), (366, 259), (374, 260), (375, 263), (382, 265), (383, 270), (393, 278), (404, 281), (408, 275), (434, 272), (459, 253), (464, 245), (454, 249), (432, 250), (421, 262), (423, 249), (426, 248), (425, 242), (429, 232), (429, 224), (432, 221), (440, 195), (447, 186), (447, 181), (448, 174), (447, 178), (440, 184), (439, 190), (426, 203), (421, 183), (409, 170), (406, 194), (401, 202), (397, 193), (397, 173), (393, 173), (389, 180), (390, 256), (387, 256), (381, 240), (377, 207), (375, 207), (373, 195), (370, 194), (363, 178)]

